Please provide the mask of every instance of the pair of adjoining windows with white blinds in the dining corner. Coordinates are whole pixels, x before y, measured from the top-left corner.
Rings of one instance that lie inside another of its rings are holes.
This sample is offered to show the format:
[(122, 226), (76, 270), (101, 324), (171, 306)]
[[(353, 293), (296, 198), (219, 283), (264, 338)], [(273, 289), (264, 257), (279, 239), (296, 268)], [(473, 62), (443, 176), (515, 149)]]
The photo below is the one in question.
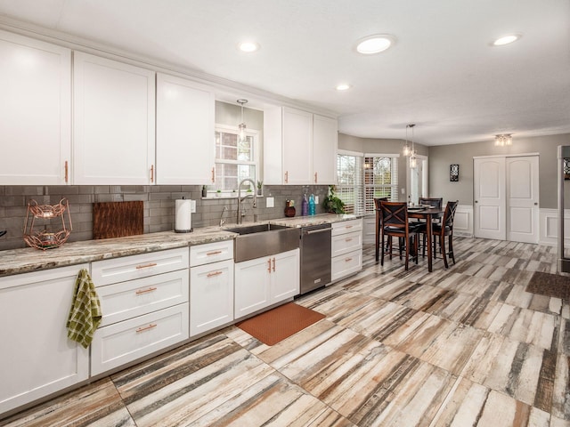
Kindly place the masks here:
[(398, 155), (338, 151), (337, 196), (347, 214), (374, 214), (374, 198), (398, 200)]

